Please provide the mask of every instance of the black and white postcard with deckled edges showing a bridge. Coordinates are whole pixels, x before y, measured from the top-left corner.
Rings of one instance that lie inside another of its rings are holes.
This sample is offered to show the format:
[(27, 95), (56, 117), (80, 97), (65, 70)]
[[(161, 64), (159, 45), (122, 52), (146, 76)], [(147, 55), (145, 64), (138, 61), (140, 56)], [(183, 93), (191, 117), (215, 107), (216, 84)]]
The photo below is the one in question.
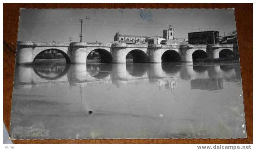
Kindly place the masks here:
[(12, 139), (246, 138), (234, 9), (21, 9)]

